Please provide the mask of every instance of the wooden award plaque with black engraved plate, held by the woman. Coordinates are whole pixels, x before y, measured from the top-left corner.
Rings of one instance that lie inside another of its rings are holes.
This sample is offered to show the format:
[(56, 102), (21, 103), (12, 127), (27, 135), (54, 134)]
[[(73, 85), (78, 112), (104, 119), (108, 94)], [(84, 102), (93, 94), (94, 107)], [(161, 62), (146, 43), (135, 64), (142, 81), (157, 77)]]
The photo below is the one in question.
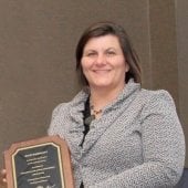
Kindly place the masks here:
[(8, 188), (74, 188), (70, 152), (59, 136), (12, 144), (4, 164)]

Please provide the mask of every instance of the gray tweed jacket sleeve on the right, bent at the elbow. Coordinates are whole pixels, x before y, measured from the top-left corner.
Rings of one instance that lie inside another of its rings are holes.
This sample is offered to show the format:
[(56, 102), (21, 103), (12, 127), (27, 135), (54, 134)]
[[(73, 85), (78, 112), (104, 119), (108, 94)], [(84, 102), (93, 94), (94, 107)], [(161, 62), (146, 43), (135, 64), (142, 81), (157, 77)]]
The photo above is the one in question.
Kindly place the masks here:
[(171, 188), (178, 182), (185, 163), (185, 137), (168, 92), (152, 93), (140, 124), (144, 163), (90, 188)]

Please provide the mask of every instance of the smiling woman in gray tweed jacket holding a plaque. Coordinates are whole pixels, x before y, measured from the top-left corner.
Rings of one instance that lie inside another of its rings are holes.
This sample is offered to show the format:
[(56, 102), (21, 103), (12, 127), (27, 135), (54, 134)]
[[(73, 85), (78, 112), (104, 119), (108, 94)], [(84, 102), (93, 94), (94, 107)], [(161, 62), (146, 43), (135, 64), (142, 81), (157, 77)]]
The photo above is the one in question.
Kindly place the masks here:
[(140, 87), (121, 25), (90, 27), (76, 48), (83, 90), (52, 114), (49, 135), (66, 140), (75, 188), (166, 188), (180, 179), (185, 138), (171, 96)]

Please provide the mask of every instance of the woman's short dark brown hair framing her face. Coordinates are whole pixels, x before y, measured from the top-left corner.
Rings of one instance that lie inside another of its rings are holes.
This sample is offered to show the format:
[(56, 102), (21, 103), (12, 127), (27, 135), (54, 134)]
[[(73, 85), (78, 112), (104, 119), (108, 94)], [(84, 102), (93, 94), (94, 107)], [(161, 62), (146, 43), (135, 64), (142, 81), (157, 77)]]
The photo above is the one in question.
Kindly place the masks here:
[(87, 80), (83, 74), (83, 70), (81, 65), (81, 60), (83, 56), (85, 44), (92, 38), (103, 36), (107, 34), (112, 34), (118, 38), (124, 58), (127, 64), (129, 65), (129, 71), (126, 73), (125, 82), (127, 83), (129, 79), (134, 79), (136, 83), (142, 83), (139, 60), (135, 50), (132, 46), (132, 43), (124, 28), (113, 22), (97, 22), (84, 31), (84, 33), (81, 35), (79, 40), (76, 51), (75, 51), (76, 71), (80, 74), (82, 84), (88, 85)]

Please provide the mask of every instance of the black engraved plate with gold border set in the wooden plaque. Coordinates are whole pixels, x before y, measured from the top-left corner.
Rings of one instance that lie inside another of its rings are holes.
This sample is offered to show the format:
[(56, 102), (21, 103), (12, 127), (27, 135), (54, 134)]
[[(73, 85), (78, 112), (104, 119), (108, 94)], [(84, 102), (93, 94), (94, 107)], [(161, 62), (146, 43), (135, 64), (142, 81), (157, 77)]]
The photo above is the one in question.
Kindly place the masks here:
[(54, 144), (36, 145), (12, 156), (17, 188), (63, 188), (60, 149)]

